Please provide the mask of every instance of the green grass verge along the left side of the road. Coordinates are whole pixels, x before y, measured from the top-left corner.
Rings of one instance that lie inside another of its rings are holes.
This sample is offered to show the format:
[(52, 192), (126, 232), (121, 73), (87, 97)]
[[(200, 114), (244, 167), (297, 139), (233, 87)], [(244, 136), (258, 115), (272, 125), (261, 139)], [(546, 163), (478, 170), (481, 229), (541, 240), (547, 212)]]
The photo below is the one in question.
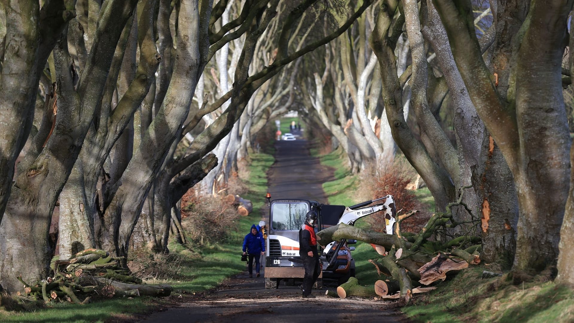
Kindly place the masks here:
[[(250, 187), (246, 199), (253, 202), (253, 213), (236, 222), (237, 230), (224, 243), (203, 245), (194, 248), (196, 253), (172, 243), (169, 249), (181, 259), (181, 273), (173, 280), (147, 281), (149, 284), (168, 283), (173, 287), (172, 295), (196, 293), (212, 289), (224, 279), (245, 270), (241, 262), (243, 237), (249, 233), (252, 224), (261, 220), (261, 209), (266, 202), (266, 172), (273, 164), (273, 156), (264, 153), (253, 154), (246, 180)], [(166, 299), (138, 297), (134, 299), (114, 298), (95, 301), (87, 305), (69, 303), (50, 303), (33, 312), (3, 312), (0, 310), (0, 322), (103, 322), (108, 319), (133, 319), (131, 314), (145, 313), (166, 303)]]

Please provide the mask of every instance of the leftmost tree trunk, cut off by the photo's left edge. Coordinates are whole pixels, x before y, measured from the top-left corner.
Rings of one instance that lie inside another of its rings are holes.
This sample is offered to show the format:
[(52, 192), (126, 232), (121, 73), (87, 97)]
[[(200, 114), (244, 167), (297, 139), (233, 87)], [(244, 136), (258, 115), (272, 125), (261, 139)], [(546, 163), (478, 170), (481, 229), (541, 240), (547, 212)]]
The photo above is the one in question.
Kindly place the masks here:
[(9, 1), (2, 10), (6, 10), (6, 35), (2, 36), (8, 43), (0, 44), (3, 48), (6, 45), (0, 57), (3, 62), (0, 68), (0, 222), (10, 197), (14, 164), (32, 125), (40, 77), (36, 75), (40, 36), (38, 2)]

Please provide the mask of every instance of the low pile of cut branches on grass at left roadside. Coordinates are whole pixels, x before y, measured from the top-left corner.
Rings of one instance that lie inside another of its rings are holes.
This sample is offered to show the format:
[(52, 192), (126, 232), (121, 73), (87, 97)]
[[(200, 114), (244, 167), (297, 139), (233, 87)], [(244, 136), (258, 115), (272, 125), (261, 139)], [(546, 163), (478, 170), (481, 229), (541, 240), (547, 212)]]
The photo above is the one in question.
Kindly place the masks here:
[(53, 276), (33, 284), (26, 283), (22, 276), (27, 296), (44, 299), (45, 302), (71, 302), (86, 304), (94, 296), (138, 297), (169, 296), (172, 287), (167, 284), (146, 285), (130, 275), (121, 266), (123, 257), (111, 256), (101, 249), (86, 249), (71, 259), (52, 259)]

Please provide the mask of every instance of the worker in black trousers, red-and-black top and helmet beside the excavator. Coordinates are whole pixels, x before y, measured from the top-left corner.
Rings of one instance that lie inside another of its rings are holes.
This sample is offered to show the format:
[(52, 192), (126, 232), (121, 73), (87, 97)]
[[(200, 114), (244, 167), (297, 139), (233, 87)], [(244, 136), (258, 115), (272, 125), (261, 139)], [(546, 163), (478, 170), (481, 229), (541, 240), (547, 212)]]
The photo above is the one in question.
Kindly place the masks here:
[(313, 226), (317, 221), (315, 211), (307, 212), (305, 223), (299, 230), (299, 255), (305, 268), (305, 276), (301, 290), (304, 298), (315, 298), (311, 295), (311, 287), (319, 277), (321, 268), (319, 268), (319, 253), (317, 252), (317, 237)]

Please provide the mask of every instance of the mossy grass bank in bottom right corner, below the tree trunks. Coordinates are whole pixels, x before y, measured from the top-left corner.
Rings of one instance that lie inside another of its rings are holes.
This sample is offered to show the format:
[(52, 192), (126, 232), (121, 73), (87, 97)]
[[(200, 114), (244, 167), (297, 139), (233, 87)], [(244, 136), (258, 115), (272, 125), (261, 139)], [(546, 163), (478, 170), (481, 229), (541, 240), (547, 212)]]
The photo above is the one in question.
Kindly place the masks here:
[(553, 282), (514, 286), (507, 276), (482, 279), (488, 266), (473, 266), (417, 294), (403, 312), (417, 322), (572, 322), (574, 292)]

